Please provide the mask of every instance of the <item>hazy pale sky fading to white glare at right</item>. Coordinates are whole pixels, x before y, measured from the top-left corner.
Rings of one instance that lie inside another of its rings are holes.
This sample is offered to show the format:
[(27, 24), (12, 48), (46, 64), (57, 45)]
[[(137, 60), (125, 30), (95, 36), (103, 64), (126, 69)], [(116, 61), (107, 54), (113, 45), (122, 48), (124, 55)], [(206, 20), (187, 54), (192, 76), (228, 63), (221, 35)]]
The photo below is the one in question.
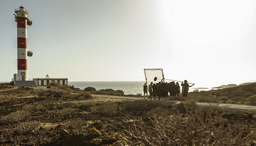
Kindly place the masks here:
[(255, 0), (0, 0), (0, 81), (17, 73), (14, 9), (29, 11), (28, 78), (206, 87), (255, 81)]

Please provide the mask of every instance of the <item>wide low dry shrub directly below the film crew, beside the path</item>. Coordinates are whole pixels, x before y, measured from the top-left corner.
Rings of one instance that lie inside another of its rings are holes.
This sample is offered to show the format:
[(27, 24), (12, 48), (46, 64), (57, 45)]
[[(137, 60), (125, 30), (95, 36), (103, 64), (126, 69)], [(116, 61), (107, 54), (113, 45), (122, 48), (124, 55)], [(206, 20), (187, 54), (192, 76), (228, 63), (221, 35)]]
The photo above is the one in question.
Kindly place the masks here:
[(124, 103), (125, 111), (149, 111), (157, 107), (167, 107), (168, 104), (162, 100), (143, 100)]

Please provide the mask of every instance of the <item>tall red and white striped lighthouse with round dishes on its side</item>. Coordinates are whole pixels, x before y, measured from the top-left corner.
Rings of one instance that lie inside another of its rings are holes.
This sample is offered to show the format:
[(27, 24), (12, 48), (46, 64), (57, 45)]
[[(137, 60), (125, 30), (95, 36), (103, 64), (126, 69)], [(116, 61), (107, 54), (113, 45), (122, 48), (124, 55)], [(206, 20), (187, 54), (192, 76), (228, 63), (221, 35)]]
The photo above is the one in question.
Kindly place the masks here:
[(17, 22), (17, 55), (18, 55), (18, 81), (27, 80), (27, 56), (32, 56), (31, 51), (27, 51), (27, 25), (31, 26), (29, 11), (24, 7), (15, 9), (15, 22)]

